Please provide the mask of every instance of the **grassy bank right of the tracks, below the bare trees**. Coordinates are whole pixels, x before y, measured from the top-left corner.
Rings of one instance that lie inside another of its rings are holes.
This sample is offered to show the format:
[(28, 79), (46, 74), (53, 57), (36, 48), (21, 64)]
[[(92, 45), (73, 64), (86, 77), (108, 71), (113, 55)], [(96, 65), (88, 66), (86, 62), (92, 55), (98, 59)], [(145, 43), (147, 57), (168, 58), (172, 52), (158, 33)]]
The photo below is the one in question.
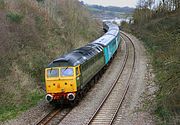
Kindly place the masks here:
[(133, 25), (152, 57), (155, 100), (150, 105), (157, 124), (178, 124), (180, 116), (180, 12), (172, 12), (142, 25)]

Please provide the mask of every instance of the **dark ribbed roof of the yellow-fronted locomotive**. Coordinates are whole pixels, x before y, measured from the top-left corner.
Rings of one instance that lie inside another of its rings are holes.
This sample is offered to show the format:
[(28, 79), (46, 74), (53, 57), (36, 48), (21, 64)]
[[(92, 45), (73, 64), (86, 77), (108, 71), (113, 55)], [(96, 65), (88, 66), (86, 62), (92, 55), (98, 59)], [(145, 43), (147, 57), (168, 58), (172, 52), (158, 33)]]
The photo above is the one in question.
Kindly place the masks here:
[(95, 44), (87, 44), (84, 47), (75, 49), (72, 52), (60, 56), (51, 62), (48, 67), (58, 67), (58, 66), (77, 66), (84, 63), (86, 60), (94, 57), (98, 53), (102, 52), (102, 46)]

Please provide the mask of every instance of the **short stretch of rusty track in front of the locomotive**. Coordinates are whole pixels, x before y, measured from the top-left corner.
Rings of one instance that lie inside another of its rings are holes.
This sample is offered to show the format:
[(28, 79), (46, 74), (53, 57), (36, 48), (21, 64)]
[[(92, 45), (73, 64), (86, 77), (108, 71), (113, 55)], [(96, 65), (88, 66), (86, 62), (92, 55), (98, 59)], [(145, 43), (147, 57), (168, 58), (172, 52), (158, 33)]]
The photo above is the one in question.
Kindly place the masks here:
[(71, 108), (56, 108), (44, 116), (36, 125), (57, 125), (71, 111)]

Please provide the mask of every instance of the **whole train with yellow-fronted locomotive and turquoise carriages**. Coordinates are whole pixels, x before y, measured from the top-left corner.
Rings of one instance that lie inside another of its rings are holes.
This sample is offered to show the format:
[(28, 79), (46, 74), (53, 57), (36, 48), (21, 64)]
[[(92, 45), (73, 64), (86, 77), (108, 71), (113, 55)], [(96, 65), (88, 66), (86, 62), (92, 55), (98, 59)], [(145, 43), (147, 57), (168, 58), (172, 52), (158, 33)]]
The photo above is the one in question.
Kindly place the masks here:
[(104, 35), (60, 56), (45, 68), (45, 99), (75, 105), (97, 81), (121, 44), (118, 25), (103, 22)]

